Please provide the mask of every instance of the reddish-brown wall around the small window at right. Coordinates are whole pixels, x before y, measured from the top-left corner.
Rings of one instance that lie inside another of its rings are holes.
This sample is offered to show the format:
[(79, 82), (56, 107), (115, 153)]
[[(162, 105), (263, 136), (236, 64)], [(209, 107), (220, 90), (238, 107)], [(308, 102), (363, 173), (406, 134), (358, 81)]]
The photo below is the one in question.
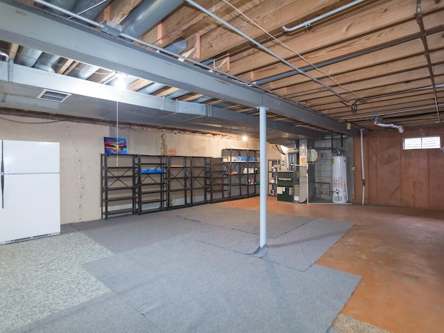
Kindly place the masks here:
[[(441, 135), (444, 127), (424, 128), (424, 135)], [(364, 133), (365, 203), (444, 210), (444, 152), (441, 149), (404, 151), (404, 137), (420, 130)], [(362, 202), (361, 142), (355, 138), (355, 201)]]

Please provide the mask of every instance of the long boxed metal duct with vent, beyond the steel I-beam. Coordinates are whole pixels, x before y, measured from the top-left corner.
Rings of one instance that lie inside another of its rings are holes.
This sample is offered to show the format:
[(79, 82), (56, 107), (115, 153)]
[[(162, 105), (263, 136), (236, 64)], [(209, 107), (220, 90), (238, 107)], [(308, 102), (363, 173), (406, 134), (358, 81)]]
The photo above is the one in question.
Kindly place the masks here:
[[(63, 103), (43, 102), (36, 99), (42, 89), (61, 91), (71, 96)], [(196, 130), (204, 131), (211, 130), (207, 123), (212, 118), (214, 122), (228, 128), (228, 131), (230, 128), (245, 128), (248, 129), (250, 137), (258, 138), (259, 119), (255, 116), (217, 108), (214, 105), (177, 101), (125, 89), (117, 92), (116, 88), (110, 85), (58, 75), (12, 62), (0, 62), (0, 97), (2, 101), (0, 106), (33, 111), (42, 111), (40, 107), (43, 106), (46, 112), (71, 115), (79, 109), (78, 103), (82, 103), (83, 113), (78, 114), (78, 117), (87, 117), (89, 114), (89, 117), (99, 120), (108, 119), (108, 115), (104, 117), (101, 110), (112, 110), (119, 99), (119, 119), (127, 123), (133, 121), (135, 114), (151, 117), (150, 114), (155, 112), (149, 123), (141, 124), (189, 129), (193, 129), (194, 126)], [(71, 99), (75, 99), (74, 102)], [(37, 105), (40, 102), (42, 105)], [(94, 107), (89, 109), (85, 106), (89, 104)], [(176, 114), (182, 115), (180, 122), (173, 120), (172, 116)], [(199, 118), (202, 120), (197, 120)], [(322, 133), (308, 128), (298, 128), (271, 120), (267, 120), (266, 125), (270, 128), (270, 133), (278, 137), (298, 135), (322, 139)], [(221, 126), (219, 133), (223, 133)]]

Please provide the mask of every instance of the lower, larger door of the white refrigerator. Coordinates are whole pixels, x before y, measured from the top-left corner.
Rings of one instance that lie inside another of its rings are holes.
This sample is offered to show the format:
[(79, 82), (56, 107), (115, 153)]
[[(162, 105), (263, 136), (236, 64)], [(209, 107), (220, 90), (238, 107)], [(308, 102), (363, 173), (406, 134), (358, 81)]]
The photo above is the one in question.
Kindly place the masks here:
[(60, 233), (60, 175), (5, 175), (0, 244)]

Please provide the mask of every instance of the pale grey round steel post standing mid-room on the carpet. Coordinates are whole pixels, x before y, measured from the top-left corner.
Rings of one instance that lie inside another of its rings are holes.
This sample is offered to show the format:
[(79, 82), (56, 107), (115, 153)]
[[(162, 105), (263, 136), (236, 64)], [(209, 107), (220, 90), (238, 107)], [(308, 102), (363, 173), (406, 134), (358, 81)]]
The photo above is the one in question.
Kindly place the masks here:
[(259, 245), (261, 248), (266, 246), (266, 110), (264, 106), (259, 106), (259, 156), (260, 156), (260, 229)]

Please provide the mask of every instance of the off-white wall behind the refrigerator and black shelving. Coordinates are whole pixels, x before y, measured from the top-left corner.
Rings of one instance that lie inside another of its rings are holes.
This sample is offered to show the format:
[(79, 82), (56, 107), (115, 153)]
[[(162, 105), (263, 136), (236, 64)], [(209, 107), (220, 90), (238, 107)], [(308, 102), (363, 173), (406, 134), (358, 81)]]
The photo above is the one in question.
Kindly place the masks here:
[[(0, 139), (60, 142), (60, 201), (62, 223), (101, 218), (100, 154), (103, 137), (115, 137), (114, 126), (0, 116)], [(220, 157), (223, 148), (259, 150), (259, 142), (206, 135), (119, 128), (129, 154)], [(267, 144), (267, 159), (276, 151)]]

